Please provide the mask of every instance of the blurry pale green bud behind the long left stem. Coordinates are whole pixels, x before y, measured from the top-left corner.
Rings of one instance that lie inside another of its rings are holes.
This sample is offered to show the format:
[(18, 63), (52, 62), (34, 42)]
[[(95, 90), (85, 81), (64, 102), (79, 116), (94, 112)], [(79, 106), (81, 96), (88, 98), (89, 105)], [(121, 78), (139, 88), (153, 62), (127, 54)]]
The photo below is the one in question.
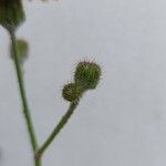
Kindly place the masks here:
[[(25, 40), (19, 39), (17, 40), (17, 49), (19, 62), (20, 64), (23, 64), (24, 61), (28, 59), (29, 44)], [(13, 51), (11, 45), (10, 45), (10, 56), (13, 60)]]

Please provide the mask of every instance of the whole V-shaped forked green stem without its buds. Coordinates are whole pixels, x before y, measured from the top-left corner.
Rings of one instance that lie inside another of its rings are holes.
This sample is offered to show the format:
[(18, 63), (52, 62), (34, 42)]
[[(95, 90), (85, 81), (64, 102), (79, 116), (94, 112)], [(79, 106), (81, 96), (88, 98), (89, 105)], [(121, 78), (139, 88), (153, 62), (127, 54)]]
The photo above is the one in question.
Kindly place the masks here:
[(17, 73), (17, 77), (18, 77), (18, 85), (19, 85), (20, 97), (21, 97), (21, 102), (22, 102), (23, 115), (24, 115), (24, 120), (27, 123), (28, 133), (30, 136), (30, 143), (31, 143), (31, 146), (33, 149), (34, 165), (41, 166), (41, 159), (42, 159), (43, 153), (50, 146), (50, 144), (53, 142), (53, 139), (56, 137), (56, 135), (60, 133), (60, 131), (64, 127), (64, 125), (68, 123), (69, 118), (71, 117), (74, 110), (76, 108), (79, 101), (71, 102), (68, 112), (64, 114), (64, 116), (62, 116), (61, 121), (58, 123), (58, 125), (55, 126), (53, 132), (50, 134), (48, 139), (39, 148), (38, 143), (37, 143), (34, 127), (32, 124), (32, 118), (30, 115), (29, 106), (28, 106), (28, 100), (27, 100), (27, 95), (25, 95), (22, 70), (21, 70), (21, 66), (19, 63), (15, 32), (13, 30), (9, 30), (9, 33), (10, 33), (11, 43), (12, 43), (13, 61), (14, 61), (15, 73)]

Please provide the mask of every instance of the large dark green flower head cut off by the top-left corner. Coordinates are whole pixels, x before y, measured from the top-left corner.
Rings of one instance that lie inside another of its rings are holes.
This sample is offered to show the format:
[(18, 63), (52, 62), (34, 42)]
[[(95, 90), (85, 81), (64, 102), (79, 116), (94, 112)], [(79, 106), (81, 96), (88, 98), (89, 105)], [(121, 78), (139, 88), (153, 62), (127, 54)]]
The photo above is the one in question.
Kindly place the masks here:
[(25, 19), (21, 0), (0, 0), (0, 24), (8, 30), (17, 29)]

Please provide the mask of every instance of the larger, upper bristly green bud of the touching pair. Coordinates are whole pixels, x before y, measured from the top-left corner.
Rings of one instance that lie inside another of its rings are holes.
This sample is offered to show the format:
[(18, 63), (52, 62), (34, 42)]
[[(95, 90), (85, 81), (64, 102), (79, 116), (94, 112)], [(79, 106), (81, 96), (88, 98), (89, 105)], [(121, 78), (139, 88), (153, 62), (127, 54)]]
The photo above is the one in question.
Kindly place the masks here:
[(80, 62), (76, 66), (74, 80), (83, 90), (93, 90), (98, 84), (101, 68), (93, 62)]

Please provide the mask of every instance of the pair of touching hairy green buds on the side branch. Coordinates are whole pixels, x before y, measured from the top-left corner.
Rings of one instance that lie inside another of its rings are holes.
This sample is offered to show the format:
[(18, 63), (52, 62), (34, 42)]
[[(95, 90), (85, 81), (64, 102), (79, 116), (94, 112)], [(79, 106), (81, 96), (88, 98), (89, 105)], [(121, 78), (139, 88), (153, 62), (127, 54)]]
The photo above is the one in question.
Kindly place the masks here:
[(80, 62), (74, 73), (74, 83), (64, 85), (62, 96), (69, 102), (80, 100), (87, 90), (94, 90), (101, 77), (101, 68), (94, 62)]

